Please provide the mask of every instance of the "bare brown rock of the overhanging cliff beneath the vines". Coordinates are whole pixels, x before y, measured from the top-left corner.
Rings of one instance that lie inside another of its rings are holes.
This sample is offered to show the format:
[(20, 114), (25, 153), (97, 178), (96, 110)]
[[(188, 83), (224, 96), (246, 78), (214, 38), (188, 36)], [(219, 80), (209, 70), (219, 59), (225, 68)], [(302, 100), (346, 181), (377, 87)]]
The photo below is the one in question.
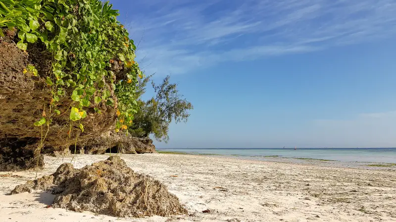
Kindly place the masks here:
[[(51, 56), (44, 50), (42, 45), (28, 44), (26, 52), (20, 50), (15, 41), (15, 30), (3, 30), (5, 37), (0, 37), (0, 170), (12, 168), (24, 170), (32, 168), (29, 162), (39, 158), (39, 152), (29, 152), (32, 147), (39, 146), (42, 128), (33, 123), (42, 117), (43, 111), (49, 115), (51, 102), (50, 87), (44, 79), (51, 69)], [(38, 70), (38, 76), (24, 74), (28, 64), (33, 64)], [(114, 107), (109, 107), (101, 102), (96, 105), (101, 114), (95, 114), (93, 107), (87, 108), (88, 116), (81, 120), (84, 125), (84, 133), (78, 128), (78, 124), (72, 126), (70, 138), (78, 135), (81, 143), (98, 137), (108, 132), (116, 122), (117, 99), (109, 81), (105, 86), (111, 92), (115, 101)], [(56, 151), (73, 144), (73, 139), (68, 139), (70, 123), (69, 107), (71, 89), (60, 97), (56, 107), (61, 115), (52, 118), (49, 131), (44, 143), (44, 149)], [(95, 104), (94, 101), (91, 101)], [(64, 114), (63, 114), (64, 113)], [(47, 127), (43, 127), (44, 134)], [(24, 141), (30, 141), (24, 144)], [(12, 150), (12, 152), (4, 151)], [(43, 150), (41, 150), (43, 152)], [(24, 156), (19, 154), (24, 153)], [(44, 165), (44, 162), (42, 162)], [(10, 167), (13, 165), (13, 167)], [(42, 166), (41, 166), (42, 167)]]

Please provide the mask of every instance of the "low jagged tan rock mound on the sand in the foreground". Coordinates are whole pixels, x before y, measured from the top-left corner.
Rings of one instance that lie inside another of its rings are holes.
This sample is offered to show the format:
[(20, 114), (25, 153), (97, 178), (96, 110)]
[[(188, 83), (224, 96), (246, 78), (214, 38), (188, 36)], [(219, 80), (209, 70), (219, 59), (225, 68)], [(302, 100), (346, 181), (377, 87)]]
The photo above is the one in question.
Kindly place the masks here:
[(76, 212), (90, 211), (114, 217), (162, 217), (187, 214), (179, 199), (165, 185), (135, 173), (118, 156), (80, 170), (70, 163), (55, 173), (18, 185), (11, 194), (45, 189), (55, 194), (52, 204)]

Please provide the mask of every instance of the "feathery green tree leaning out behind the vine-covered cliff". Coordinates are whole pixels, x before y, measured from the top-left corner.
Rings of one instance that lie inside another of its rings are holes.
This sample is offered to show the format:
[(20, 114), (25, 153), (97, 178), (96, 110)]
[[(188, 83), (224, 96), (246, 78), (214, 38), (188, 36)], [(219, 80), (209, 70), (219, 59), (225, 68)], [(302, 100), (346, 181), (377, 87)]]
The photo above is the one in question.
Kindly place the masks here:
[[(146, 92), (146, 84), (150, 77), (141, 80), (138, 85), (137, 95), (140, 97)], [(179, 94), (176, 83), (169, 82), (170, 75), (166, 76), (162, 83), (156, 85), (151, 81), (155, 96), (148, 101), (137, 100), (140, 110), (135, 114), (130, 133), (136, 137), (148, 137), (153, 134), (154, 138), (161, 142), (168, 142), (168, 129), (172, 121), (187, 122), (190, 116), (189, 110), (193, 105), (183, 95)]]

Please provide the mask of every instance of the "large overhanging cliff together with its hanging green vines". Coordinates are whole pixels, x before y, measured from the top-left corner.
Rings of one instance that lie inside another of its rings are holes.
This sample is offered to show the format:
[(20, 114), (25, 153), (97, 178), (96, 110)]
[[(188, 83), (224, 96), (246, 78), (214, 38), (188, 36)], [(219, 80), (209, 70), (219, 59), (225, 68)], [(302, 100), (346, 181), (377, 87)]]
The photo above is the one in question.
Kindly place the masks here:
[(10, 150), (0, 162), (16, 163), (19, 148), (38, 156), (76, 145), (114, 124), (127, 133), (144, 75), (117, 16), (100, 0), (0, 1), (0, 51), (9, 52), (0, 61), (0, 139)]

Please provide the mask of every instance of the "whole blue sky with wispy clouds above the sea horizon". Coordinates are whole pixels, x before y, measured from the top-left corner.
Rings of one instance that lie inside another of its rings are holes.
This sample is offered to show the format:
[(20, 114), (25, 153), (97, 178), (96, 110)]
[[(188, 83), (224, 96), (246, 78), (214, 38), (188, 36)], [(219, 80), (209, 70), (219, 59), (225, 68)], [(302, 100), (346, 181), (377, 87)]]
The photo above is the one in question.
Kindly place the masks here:
[(157, 148), (396, 147), (395, 0), (111, 3), (194, 105)]

